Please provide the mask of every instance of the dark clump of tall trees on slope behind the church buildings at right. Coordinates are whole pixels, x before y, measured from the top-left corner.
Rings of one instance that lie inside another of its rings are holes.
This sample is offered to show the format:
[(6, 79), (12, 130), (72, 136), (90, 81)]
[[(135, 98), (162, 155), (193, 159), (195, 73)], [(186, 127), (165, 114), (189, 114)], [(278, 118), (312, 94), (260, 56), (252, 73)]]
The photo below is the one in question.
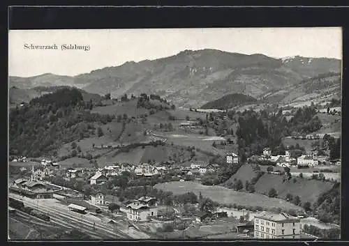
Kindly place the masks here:
[(269, 114), (265, 110), (243, 112), (236, 132), (242, 156), (260, 154), (266, 146), (272, 148), (272, 153), (284, 153), (285, 148), (281, 144), (283, 137), (307, 134), (321, 128), (322, 123), (315, 114), (314, 107), (299, 108), (288, 121), (281, 109), (277, 114)]

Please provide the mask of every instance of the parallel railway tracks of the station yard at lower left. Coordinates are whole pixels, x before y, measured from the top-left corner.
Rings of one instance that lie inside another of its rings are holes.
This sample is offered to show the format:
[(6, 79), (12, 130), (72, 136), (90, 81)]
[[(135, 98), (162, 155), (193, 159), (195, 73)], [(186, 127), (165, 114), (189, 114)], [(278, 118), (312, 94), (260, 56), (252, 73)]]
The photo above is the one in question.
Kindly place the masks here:
[(20, 197), (12, 193), (9, 194), (9, 197), (24, 201), (25, 206), (36, 209), (39, 208), (43, 213), (50, 215), (52, 222), (56, 222), (62, 226), (64, 225), (80, 229), (91, 236), (98, 236), (107, 239), (131, 238), (131, 236), (128, 236), (124, 231), (116, 229), (112, 225), (105, 224), (101, 222), (101, 220), (91, 220), (91, 217), (87, 215), (80, 215), (79, 213), (60, 208), (59, 206), (44, 205), (43, 202), (40, 203), (36, 200), (27, 197)]

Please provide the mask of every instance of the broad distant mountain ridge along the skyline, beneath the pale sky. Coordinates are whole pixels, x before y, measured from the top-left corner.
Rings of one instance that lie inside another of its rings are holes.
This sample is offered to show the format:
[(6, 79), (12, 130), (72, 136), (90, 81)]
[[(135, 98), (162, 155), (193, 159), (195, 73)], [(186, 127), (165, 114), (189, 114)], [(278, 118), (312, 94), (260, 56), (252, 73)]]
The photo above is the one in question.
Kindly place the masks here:
[(326, 72), (340, 72), (341, 60), (292, 56), (275, 59), (264, 54), (240, 54), (217, 49), (184, 50), (161, 59), (128, 61), (73, 77), (44, 74), (10, 77), (10, 86), (76, 86), (113, 98), (156, 93), (182, 107), (200, 107), (231, 93), (260, 98)]

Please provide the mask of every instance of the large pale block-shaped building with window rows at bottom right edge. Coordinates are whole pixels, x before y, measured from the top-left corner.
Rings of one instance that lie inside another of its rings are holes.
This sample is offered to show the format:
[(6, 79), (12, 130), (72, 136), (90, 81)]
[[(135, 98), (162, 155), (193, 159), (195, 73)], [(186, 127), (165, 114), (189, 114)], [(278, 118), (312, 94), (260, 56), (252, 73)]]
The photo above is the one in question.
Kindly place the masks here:
[(263, 212), (255, 215), (254, 224), (255, 238), (300, 238), (300, 220), (286, 213)]

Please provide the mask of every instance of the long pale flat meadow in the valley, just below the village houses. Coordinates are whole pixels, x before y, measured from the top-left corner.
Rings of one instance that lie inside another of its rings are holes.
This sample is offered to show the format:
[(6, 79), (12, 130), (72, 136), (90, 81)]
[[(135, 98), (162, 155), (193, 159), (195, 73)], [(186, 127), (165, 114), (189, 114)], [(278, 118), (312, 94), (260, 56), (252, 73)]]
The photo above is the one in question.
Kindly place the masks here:
[(262, 208), (283, 208), (285, 210), (299, 210), (298, 206), (284, 201), (282, 199), (269, 198), (262, 194), (251, 194), (246, 192), (236, 192), (221, 186), (205, 186), (195, 182), (170, 182), (154, 185), (157, 189), (173, 192), (173, 194), (184, 194), (194, 192), (203, 197), (209, 197), (218, 203), (233, 204), (237, 203), (242, 206), (261, 206)]

